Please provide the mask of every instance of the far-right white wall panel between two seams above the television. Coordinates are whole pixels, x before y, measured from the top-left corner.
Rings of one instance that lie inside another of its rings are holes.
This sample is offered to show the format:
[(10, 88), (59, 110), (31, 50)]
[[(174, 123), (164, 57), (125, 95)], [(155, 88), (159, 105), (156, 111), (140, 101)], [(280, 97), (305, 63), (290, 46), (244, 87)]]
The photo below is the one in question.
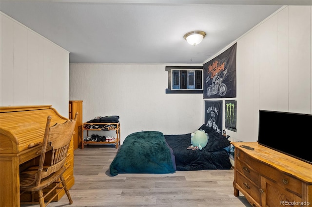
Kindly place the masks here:
[(289, 8), (289, 111), (311, 113), (311, 7)]

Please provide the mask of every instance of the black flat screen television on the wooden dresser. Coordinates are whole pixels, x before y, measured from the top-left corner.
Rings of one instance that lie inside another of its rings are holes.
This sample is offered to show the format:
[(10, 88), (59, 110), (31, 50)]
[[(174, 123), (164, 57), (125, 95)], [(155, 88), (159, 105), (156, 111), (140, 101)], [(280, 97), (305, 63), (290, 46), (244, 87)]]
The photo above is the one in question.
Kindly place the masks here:
[(258, 143), (312, 164), (312, 115), (259, 111)]

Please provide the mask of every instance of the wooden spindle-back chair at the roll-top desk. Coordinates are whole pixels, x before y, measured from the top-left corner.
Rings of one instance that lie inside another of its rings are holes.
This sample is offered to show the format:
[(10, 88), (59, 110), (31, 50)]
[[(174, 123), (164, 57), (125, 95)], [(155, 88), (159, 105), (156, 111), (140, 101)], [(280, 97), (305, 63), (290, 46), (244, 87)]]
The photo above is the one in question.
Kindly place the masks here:
[[(38, 152), (38, 154), (41, 153), (39, 166), (29, 166), (20, 172), (21, 193), (25, 191), (31, 192), (31, 202), (27, 202), (27, 204), (38, 203), (34, 199), (34, 192), (38, 191), (40, 207), (46, 207), (63, 189), (69, 203), (73, 203), (66, 187), (63, 173), (66, 170), (64, 163), (73, 136), (77, 116), (78, 113), (76, 113), (74, 120), (60, 124), (57, 123), (54, 126), (50, 126), (51, 116), (47, 117), (41, 152)], [(49, 152), (49, 155), (46, 154), (47, 152)], [(46, 160), (47, 158), (49, 158), (48, 162)], [(52, 185), (51, 190), (44, 190), (52, 183), (55, 183), (55, 185)], [(57, 191), (57, 193), (51, 198), (49, 197), (49, 201), (45, 203), (44, 199), (53, 191)], [(22, 203), (25, 204), (26, 202)]]

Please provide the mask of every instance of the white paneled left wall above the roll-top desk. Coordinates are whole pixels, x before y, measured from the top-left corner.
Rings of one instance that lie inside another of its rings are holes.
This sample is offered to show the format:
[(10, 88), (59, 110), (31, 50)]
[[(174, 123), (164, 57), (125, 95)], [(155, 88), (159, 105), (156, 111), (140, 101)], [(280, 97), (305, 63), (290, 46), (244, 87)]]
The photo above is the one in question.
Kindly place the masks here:
[(69, 52), (0, 13), (0, 106), (52, 105), (68, 117)]

